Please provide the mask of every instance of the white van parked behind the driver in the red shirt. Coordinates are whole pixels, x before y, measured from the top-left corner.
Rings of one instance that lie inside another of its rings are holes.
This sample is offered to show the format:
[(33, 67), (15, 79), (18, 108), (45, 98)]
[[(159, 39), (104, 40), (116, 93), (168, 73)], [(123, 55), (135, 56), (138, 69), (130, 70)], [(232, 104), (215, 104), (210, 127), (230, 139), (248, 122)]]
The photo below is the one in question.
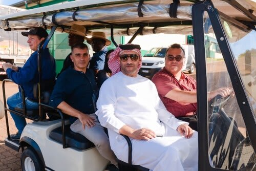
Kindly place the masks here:
[[(188, 71), (194, 73), (195, 71), (195, 50), (194, 45), (182, 45), (185, 50), (185, 63), (183, 66), (183, 72)], [(144, 77), (152, 78), (155, 73), (160, 71), (164, 67), (164, 57), (168, 48), (152, 48), (142, 57), (142, 67), (139, 70), (139, 74)]]

